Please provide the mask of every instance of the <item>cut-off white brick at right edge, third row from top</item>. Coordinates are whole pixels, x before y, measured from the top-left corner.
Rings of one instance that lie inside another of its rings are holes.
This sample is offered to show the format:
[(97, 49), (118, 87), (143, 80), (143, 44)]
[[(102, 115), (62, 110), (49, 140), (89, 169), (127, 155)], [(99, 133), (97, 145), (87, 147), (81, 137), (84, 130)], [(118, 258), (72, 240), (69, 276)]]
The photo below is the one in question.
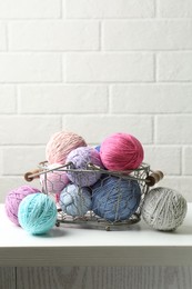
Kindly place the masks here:
[(192, 81), (192, 53), (164, 52), (156, 61), (159, 81)]

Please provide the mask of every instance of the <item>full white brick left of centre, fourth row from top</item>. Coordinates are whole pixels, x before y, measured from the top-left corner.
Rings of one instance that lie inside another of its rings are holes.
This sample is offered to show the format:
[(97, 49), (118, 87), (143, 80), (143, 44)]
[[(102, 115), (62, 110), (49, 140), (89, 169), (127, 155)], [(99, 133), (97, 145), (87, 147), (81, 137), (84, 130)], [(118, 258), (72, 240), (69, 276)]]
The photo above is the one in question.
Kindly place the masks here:
[(108, 111), (108, 88), (20, 86), (18, 107), (21, 113), (102, 113)]

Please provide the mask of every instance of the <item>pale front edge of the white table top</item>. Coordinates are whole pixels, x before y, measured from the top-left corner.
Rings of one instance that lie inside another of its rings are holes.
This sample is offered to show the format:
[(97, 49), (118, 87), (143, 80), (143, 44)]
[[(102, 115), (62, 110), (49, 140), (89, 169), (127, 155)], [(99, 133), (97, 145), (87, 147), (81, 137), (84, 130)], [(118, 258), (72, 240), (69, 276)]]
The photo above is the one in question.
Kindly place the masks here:
[[(33, 237), (34, 238), (34, 237)], [(41, 237), (40, 237), (41, 238)], [(88, 236), (89, 238), (89, 236)], [(154, 240), (155, 241), (155, 240)], [(53, 241), (52, 241), (53, 243)], [(16, 267), (192, 266), (191, 247), (0, 248), (0, 265)]]

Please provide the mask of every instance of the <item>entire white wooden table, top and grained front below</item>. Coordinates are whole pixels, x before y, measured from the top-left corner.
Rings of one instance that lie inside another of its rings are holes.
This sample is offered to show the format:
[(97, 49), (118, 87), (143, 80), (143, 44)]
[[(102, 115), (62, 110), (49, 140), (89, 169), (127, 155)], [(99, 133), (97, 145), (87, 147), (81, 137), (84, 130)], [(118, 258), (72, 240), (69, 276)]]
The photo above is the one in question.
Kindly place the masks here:
[[(0, 279), (2, 282), (7, 280), (7, 287), (4, 287), (7, 289), (124, 289), (128, 288), (128, 277), (132, 275), (140, 276), (140, 282), (132, 277), (132, 287), (130, 285), (129, 288), (190, 289), (192, 288), (192, 203), (188, 205), (184, 223), (175, 232), (155, 231), (140, 221), (129, 226), (125, 230), (114, 231), (61, 225), (60, 228), (55, 227), (44, 236), (30, 236), (22, 228), (16, 227), (8, 220), (4, 206), (1, 205), (0, 267), (2, 270)], [(171, 280), (170, 270), (172, 281), (169, 282), (172, 282), (173, 287), (165, 287), (163, 280)], [(54, 276), (53, 283), (51, 283), (51, 273)], [(31, 276), (33, 276), (33, 281), (30, 279)], [(114, 278), (114, 276), (117, 277)], [(102, 282), (97, 281), (99, 277), (102, 277)], [(13, 283), (17, 280), (17, 287), (9, 286), (8, 281), (11, 278)], [(60, 282), (59, 278), (63, 278), (63, 280)], [(119, 283), (117, 285), (118, 278)], [(155, 287), (156, 278), (159, 278), (159, 283)], [(42, 285), (38, 287), (36, 282), (40, 282), (40, 280), (42, 283), (46, 282), (44, 287)], [(179, 281), (175, 280), (180, 280), (182, 285), (176, 287)], [(79, 282), (82, 287), (78, 287)], [(33, 287), (34, 283), (37, 287)], [(65, 286), (63, 287), (63, 285)], [(0, 285), (0, 288), (3, 287)]]

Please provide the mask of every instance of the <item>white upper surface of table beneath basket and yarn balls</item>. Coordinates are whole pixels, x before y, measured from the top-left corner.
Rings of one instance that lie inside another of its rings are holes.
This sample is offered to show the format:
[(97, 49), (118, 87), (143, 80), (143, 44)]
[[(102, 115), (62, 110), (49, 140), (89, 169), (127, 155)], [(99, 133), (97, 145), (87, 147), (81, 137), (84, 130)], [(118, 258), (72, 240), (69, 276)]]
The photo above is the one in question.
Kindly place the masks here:
[(162, 232), (151, 229), (143, 220), (107, 231), (105, 228), (90, 229), (83, 225), (61, 223), (42, 236), (32, 236), (21, 227), (12, 223), (0, 205), (0, 248), (3, 247), (192, 247), (192, 203), (188, 203), (188, 212), (182, 226), (175, 231)]

